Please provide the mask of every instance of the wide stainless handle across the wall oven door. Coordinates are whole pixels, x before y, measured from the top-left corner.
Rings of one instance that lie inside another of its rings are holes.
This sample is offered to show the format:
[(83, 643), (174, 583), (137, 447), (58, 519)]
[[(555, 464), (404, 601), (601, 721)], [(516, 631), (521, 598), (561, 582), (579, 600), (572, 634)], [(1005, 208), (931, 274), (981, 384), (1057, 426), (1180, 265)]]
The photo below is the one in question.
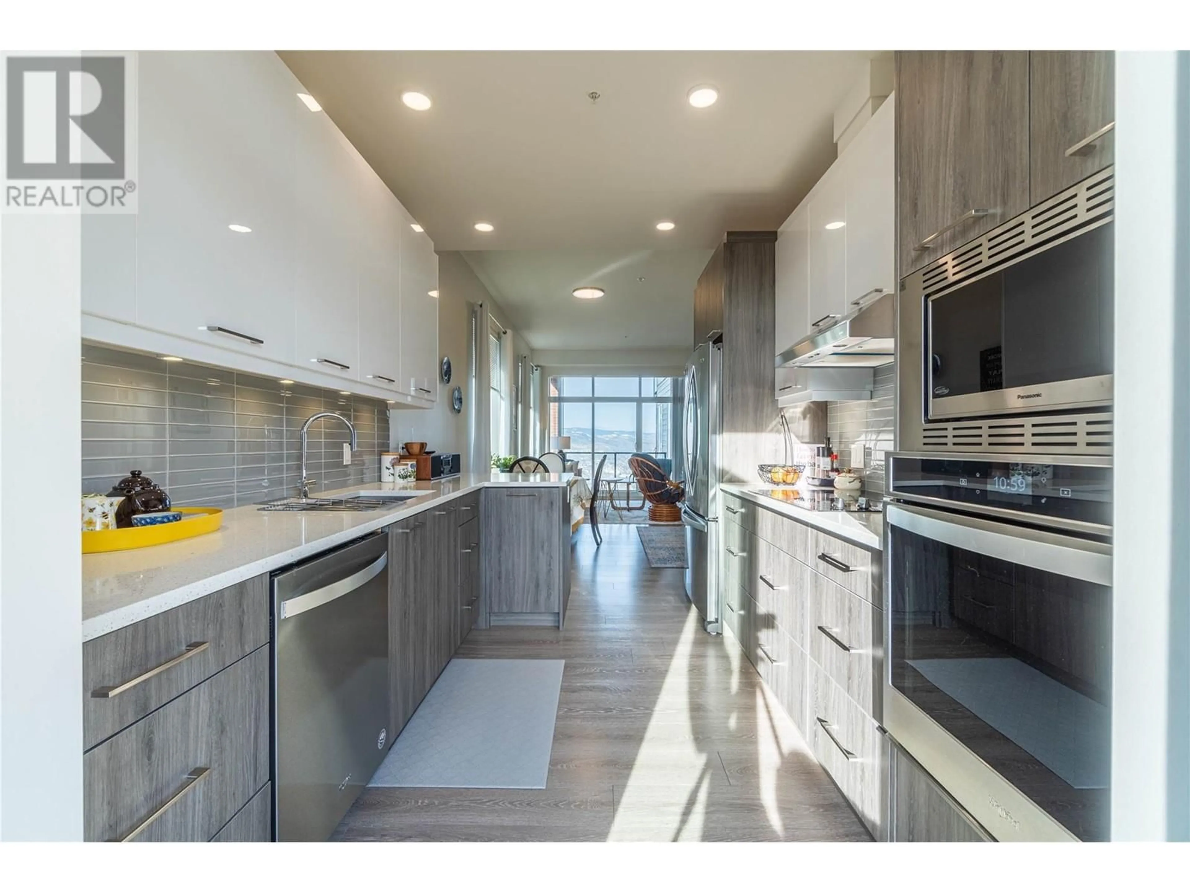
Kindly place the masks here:
[(906, 504), (887, 505), (884, 520), (890, 527), (1009, 564), (1111, 585), (1111, 549), (1098, 542)]

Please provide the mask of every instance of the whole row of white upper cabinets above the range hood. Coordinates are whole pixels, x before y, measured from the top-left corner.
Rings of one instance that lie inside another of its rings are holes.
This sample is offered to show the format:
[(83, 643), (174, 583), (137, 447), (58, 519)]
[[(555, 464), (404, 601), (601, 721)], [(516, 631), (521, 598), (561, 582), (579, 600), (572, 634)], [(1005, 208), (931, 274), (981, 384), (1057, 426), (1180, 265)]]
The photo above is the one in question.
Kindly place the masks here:
[(892, 102), (884, 100), (781, 227), (778, 356), (896, 289)]

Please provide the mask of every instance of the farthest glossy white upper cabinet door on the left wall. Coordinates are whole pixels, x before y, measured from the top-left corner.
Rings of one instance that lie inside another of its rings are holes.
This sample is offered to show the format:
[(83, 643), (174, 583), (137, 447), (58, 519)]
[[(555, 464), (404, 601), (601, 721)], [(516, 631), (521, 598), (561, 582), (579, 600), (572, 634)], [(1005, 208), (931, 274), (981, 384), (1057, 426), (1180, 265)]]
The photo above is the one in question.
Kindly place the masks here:
[[(401, 384), (438, 398), (438, 255), (406, 215), (401, 227)], [(433, 294), (431, 294), (431, 291)]]

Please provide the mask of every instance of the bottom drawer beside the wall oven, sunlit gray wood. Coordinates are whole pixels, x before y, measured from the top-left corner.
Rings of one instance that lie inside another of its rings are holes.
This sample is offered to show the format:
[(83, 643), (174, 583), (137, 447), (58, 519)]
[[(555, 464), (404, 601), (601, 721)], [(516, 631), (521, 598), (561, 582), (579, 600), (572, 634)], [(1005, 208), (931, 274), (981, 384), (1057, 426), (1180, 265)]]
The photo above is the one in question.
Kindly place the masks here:
[(809, 661), (809, 680), (806, 723), (814, 758), (879, 840), (888, 811), (884, 735), (814, 660)]

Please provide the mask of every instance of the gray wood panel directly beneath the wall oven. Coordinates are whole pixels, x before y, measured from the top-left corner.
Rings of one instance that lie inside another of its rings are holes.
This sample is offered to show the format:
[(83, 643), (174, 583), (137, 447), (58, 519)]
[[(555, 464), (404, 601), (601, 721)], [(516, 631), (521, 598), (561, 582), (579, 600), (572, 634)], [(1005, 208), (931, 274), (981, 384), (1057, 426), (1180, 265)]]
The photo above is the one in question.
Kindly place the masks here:
[(890, 842), (990, 842), (975, 818), (956, 803), (926, 769), (890, 745)]

